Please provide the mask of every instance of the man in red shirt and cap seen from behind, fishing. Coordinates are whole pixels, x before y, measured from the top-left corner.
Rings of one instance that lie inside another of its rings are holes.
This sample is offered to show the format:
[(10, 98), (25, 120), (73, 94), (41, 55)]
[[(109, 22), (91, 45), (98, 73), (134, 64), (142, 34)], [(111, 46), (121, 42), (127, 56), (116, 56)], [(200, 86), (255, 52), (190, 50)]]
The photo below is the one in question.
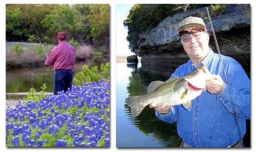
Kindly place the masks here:
[(67, 42), (67, 33), (59, 32), (58, 45), (47, 57), (45, 64), (54, 69), (54, 95), (58, 91), (67, 91), (72, 87), (75, 64), (75, 49)]

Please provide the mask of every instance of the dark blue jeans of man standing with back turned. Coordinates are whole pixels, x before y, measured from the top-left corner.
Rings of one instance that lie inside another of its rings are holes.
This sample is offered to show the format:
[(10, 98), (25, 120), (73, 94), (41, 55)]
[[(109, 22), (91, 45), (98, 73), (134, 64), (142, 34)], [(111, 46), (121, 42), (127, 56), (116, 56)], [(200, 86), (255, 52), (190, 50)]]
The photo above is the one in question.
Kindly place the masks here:
[(73, 70), (55, 70), (54, 71), (54, 95), (57, 95), (58, 91), (68, 91), (68, 88), (72, 87)]

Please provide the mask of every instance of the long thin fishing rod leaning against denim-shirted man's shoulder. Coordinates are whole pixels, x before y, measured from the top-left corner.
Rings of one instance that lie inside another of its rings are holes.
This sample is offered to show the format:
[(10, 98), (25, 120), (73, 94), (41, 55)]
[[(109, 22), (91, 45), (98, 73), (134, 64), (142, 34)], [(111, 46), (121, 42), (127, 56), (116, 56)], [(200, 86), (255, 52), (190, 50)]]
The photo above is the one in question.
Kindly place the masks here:
[(231, 92), (230, 92), (230, 89), (229, 89), (227, 73), (226, 73), (226, 70), (225, 70), (225, 67), (224, 67), (224, 63), (223, 63), (223, 60), (222, 60), (222, 57), (221, 57), (218, 41), (217, 41), (217, 38), (216, 38), (216, 35), (215, 35), (215, 31), (214, 31), (214, 26), (212, 25), (212, 22), (211, 22), (211, 19), (210, 19), (210, 13), (209, 13), (208, 8), (205, 7), (205, 9), (206, 9), (206, 12), (207, 12), (207, 15), (208, 15), (208, 18), (209, 18), (209, 23), (210, 23), (210, 26), (211, 26), (211, 32), (212, 32), (212, 35), (214, 36), (214, 41), (215, 41), (216, 49), (217, 49), (217, 51), (219, 53), (220, 60), (221, 60), (221, 63), (222, 63), (222, 69), (223, 69), (223, 72), (224, 72), (224, 75), (225, 75), (225, 79), (226, 79), (226, 82), (227, 82), (227, 89), (228, 89), (228, 92), (229, 92), (229, 95), (230, 95), (230, 98), (231, 98), (231, 101), (232, 101), (231, 103), (232, 103), (232, 107), (233, 107), (233, 111), (234, 111), (234, 118), (236, 120), (236, 124), (237, 124), (237, 127), (238, 127), (240, 141), (241, 141), (242, 147), (244, 147), (242, 133), (241, 133), (241, 128), (240, 128), (240, 124), (239, 124), (238, 116), (237, 116), (237, 111), (234, 109), (234, 102), (233, 102), (233, 98), (232, 98), (232, 95), (231, 95)]

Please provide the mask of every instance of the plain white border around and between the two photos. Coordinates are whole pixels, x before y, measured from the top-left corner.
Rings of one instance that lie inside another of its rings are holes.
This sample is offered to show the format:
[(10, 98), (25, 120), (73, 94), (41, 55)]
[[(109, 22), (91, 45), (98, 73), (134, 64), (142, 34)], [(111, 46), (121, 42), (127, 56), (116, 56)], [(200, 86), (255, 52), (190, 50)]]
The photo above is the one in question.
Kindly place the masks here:
[[(130, 149), (124, 149), (124, 148), (116, 148), (116, 82), (115, 82), (115, 75), (116, 75), (116, 70), (115, 70), (115, 49), (116, 49), (116, 4), (174, 4), (174, 3), (179, 3), (179, 4), (188, 4), (188, 3), (198, 3), (198, 4), (251, 4), (251, 147), (252, 148), (246, 148), (243, 150), (255, 150), (256, 145), (254, 139), (254, 133), (255, 129), (254, 128), (254, 120), (253, 120), (253, 107), (255, 104), (253, 104), (253, 86), (255, 86), (255, 82), (253, 81), (254, 79), (254, 71), (253, 68), (255, 69), (255, 66), (253, 64), (255, 61), (255, 53), (254, 53), (254, 47), (255, 47), (255, 6), (252, 4), (253, 0), (247, 0), (247, 1), (237, 1), (237, 0), (232, 0), (232, 1), (225, 1), (225, 0), (202, 0), (202, 1), (163, 1), (163, 0), (109, 0), (109, 1), (103, 1), (103, 0), (0, 0), (0, 150), (1, 151), (156, 151), (156, 150), (163, 150), (163, 151), (174, 151), (174, 150), (188, 150), (188, 149), (181, 149), (181, 148), (143, 148), (143, 149), (135, 149), (135, 148), (130, 148)], [(111, 7), (111, 147), (110, 148), (6, 148), (5, 146), (5, 4), (110, 4)], [(254, 18), (254, 19), (253, 19)], [(254, 26), (254, 28), (253, 28)], [(242, 38), (242, 37), (241, 37)], [(233, 149), (189, 149), (189, 150), (218, 150), (218, 151), (224, 151), (224, 150), (233, 150)], [(239, 150), (239, 149), (235, 149)]]

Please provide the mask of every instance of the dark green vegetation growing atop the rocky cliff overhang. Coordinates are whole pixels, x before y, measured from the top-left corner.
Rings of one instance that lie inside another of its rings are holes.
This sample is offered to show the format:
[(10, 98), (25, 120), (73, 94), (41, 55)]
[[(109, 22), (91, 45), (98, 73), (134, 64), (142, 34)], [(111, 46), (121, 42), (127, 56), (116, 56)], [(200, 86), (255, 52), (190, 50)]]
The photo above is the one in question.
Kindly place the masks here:
[(135, 4), (124, 20), (124, 27), (128, 29), (126, 37), (129, 49), (133, 50), (139, 39), (139, 33), (156, 27), (164, 18), (177, 12), (205, 7), (204, 4)]

